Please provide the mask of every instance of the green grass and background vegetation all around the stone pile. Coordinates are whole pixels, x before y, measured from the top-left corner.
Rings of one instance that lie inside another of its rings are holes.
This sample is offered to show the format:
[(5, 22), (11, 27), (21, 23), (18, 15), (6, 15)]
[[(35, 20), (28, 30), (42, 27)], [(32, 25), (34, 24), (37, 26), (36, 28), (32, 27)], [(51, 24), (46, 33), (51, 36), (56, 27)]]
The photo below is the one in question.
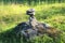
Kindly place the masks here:
[[(13, 33), (13, 28), (27, 22), (26, 10), (34, 8), (36, 18), (64, 31), (60, 38), (37, 37), (25, 42)], [(65, 43), (65, 0), (0, 0), (0, 43)]]

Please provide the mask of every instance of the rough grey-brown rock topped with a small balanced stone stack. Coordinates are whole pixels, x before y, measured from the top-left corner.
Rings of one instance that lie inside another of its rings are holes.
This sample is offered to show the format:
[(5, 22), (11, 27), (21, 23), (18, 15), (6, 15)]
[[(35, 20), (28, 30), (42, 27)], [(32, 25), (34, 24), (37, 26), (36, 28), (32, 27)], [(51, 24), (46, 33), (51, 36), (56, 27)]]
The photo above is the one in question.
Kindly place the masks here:
[(29, 15), (29, 20), (18, 25), (21, 35), (23, 35), (25, 39), (31, 39), (44, 33), (50, 37), (56, 37), (60, 33), (58, 30), (49, 26), (48, 24), (37, 22), (36, 17), (34, 16), (35, 11), (32, 9), (27, 11), (27, 15)]

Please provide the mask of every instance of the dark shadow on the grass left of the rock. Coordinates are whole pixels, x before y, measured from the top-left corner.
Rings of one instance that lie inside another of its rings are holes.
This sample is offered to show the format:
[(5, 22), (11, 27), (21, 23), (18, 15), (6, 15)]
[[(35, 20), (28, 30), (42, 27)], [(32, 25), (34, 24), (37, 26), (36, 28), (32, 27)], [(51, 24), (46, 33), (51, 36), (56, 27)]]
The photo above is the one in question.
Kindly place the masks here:
[(21, 39), (20, 33), (17, 34), (17, 32), (21, 31), (20, 27), (21, 25), (0, 33), (0, 43), (25, 43), (25, 41)]

